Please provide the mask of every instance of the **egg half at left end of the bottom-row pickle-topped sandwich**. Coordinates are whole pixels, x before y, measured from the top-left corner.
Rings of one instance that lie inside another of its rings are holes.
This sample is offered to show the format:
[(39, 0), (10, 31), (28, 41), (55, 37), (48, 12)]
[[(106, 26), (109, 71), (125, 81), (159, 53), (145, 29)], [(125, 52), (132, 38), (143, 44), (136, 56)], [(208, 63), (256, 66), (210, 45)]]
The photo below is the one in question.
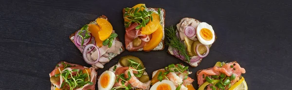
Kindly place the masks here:
[(115, 74), (110, 71), (103, 72), (98, 79), (98, 90), (110, 90), (114, 85)]

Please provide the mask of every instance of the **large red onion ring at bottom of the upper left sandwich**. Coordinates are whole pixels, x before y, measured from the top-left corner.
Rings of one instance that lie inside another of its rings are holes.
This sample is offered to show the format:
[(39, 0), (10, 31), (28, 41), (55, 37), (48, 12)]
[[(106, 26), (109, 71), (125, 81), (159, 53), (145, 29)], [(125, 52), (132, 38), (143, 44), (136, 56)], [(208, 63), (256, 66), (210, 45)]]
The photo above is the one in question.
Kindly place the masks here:
[[(88, 52), (87, 50), (90, 49), (91, 46), (93, 46), (92, 49), (95, 47), (95, 48), (96, 48), (96, 51), (98, 52), (98, 58), (97, 58), (95, 61), (90, 61), (90, 60), (88, 60), (87, 55), (86, 55), (87, 52)], [(97, 48), (95, 45), (93, 45), (93, 44), (89, 44), (89, 45), (86, 45), (86, 46), (84, 47), (84, 50), (83, 50), (83, 59), (85, 60), (86, 63), (91, 64), (91, 65), (92, 65), (92, 64), (95, 64), (95, 63), (98, 62), (99, 57), (100, 57), (100, 53), (99, 53), (98, 48)]]

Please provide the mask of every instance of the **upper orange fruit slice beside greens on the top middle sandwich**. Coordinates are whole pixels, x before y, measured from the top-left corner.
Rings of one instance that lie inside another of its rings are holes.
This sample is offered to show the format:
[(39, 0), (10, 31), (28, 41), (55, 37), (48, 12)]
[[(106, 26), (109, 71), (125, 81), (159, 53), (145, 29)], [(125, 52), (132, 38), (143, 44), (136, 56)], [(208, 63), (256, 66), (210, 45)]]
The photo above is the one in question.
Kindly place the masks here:
[(153, 13), (152, 21), (150, 20), (145, 27), (142, 27), (141, 34), (149, 35), (158, 29), (160, 25), (160, 17), (159, 15)]

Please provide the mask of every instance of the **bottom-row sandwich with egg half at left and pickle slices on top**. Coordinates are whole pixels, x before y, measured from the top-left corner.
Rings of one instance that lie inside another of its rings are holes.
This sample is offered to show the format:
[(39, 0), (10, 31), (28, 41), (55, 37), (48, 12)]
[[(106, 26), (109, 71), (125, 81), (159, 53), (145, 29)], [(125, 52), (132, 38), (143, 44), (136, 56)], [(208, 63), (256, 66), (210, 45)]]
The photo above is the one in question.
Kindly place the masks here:
[(98, 78), (98, 90), (149, 90), (150, 80), (143, 62), (134, 56), (124, 56), (119, 63)]

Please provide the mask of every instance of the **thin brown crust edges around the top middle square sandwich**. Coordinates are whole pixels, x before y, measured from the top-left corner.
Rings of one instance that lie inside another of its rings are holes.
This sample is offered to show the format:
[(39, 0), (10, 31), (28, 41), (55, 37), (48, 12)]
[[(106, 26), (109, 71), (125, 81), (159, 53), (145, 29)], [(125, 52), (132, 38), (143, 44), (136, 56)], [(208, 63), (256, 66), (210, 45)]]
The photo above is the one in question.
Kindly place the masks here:
[[(154, 9), (155, 11), (158, 11), (158, 9), (159, 8), (147, 8), (147, 9)], [(165, 10), (163, 9), (163, 8), (161, 8), (161, 10), (164, 12), (164, 14), (163, 14), (163, 21), (164, 21), (164, 26), (165, 26)], [(125, 10), (125, 8), (123, 8), (123, 18), (124, 18), (124, 14), (126, 13), (126, 10)], [(125, 30), (126, 30), (126, 28), (125, 28)], [(164, 30), (164, 29), (163, 29)], [(164, 34), (164, 36), (165, 36), (165, 34)], [(164, 37), (165, 38), (165, 37)], [(164, 49), (164, 47), (165, 47), (165, 43), (164, 43), (164, 40), (165, 39), (163, 39), (163, 40), (161, 40), (161, 42), (162, 42), (162, 45), (163, 45), (163, 47), (161, 48), (161, 49), (159, 49), (159, 50), (163, 50)], [(126, 46), (126, 45), (125, 45)], [(127, 49), (128, 50), (128, 49)], [(159, 51), (159, 50), (154, 50), (154, 51)], [(134, 51), (139, 51), (139, 50), (128, 50), (128, 51), (130, 51), (130, 52), (134, 52)], [(153, 51), (153, 50), (143, 50), (143, 51), (145, 51), (145, 52), (149, 52), (149, 51)]]

